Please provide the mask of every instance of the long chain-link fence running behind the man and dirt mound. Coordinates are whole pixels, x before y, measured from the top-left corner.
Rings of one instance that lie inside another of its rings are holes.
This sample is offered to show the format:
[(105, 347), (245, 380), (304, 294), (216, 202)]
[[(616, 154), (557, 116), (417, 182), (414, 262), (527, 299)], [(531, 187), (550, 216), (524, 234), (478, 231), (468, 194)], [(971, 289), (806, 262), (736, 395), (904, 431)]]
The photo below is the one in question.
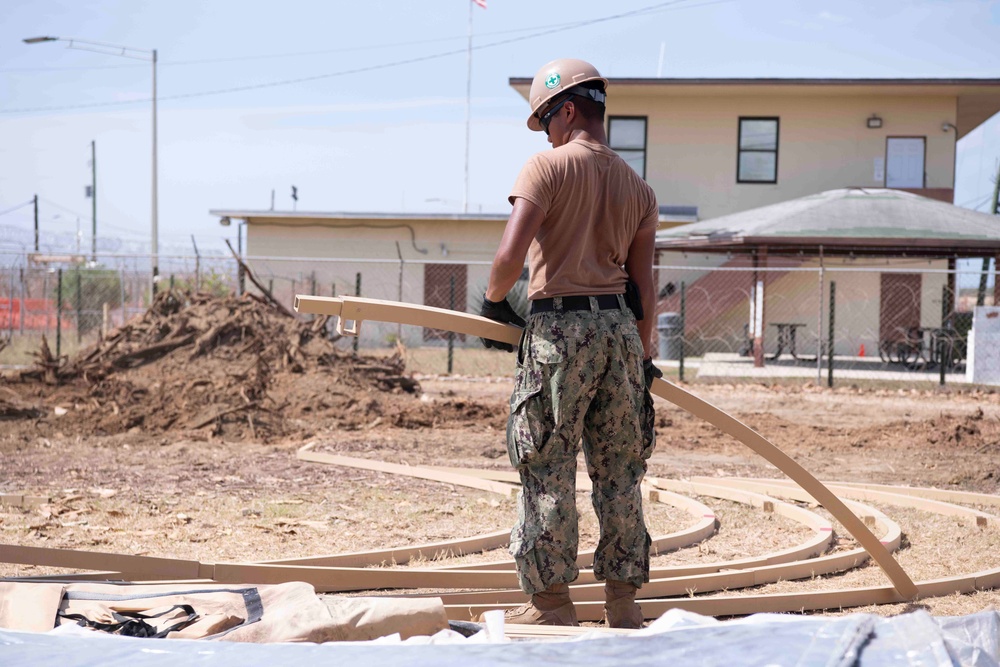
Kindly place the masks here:
[[(266, 290), (289, 308), (296, 294), (360, 295), (478, 312), (490, 270), (485, 261), (399, 258), (246, 264), (248, 273), (232, 258), (161, 257), (157, 284), (217, 295)], [(685, 381), (964, 382), (973, 308), (994, 303), (992, 269), (984, 280), (978, 263), (949, 270), (946, 260), (855, 266), (772, 257), (755, 268), (750, 257), (705, 256), (657, 266), (655, 275), (658, 356)], [(143, 312), (152, 284), (143, 256), (38, 264), (0, 254), (0, 364), (30, 363), (42, 336), (53, 352), (75, 353)], [(525, 292), (522, 279), (510, 297), (522, 313)], [(509, 355), (421, 327), (364, 322), (360, 336), (339, 344), (374, 353), (401, 345), (422, 372), (513, 372)]]

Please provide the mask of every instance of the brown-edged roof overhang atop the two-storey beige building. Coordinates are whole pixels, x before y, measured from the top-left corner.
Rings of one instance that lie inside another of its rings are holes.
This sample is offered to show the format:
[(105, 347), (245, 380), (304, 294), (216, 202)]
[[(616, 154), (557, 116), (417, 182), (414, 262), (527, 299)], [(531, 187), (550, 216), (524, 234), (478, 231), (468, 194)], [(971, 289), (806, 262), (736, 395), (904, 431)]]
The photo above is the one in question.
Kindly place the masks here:
[[(531, 78), (511, 77), (511, 87), (528, 98)], [(615, 90), (639, 97), (772, 96), (925, 96), (954, 97), (961, 138), (1000, 111), (1000, 79), (609, 79)]]

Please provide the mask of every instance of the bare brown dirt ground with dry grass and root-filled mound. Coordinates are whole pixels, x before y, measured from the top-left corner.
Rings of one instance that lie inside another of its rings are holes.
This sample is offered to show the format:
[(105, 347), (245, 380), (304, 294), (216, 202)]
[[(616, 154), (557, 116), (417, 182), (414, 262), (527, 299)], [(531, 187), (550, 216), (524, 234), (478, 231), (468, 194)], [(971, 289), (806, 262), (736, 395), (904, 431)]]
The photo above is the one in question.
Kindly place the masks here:
[[(254, 561), (419, 544), (512, 524), (514, 502), (487, 492), (295, 458), (312, 442), (361, 458), (509, 470), (509, 378), (413, 375), (399, 354), (356, 357), (323, 336), (322, 323), (295, 322), (252, 299), (174, 301), (160, 299), (144, 318), (71, 360), (43, 352), (36, 368), (0, 379), (0, 493), (40, 498), (34, 506), (0, 506), (0, 542)], [(1000, 396), (991, 391), (689, 388), (821, 479), (998, 494)], [(657, 438), (650, 460), (657, 477), (780, 476), (744, 445), (659, 399)], [(584, 546), (593, 546), (596, 520), (586, 496), (578, 500)], [(718, 534), (658, 556), (655, 565), (760, 555), (805, 534), (773, 515), (701, 500), (720, 517)], [(902, 526), (898, 558), (915, 580), (1000, 565), (992, 526), (876, 507)], [(688, 521), (666, 505), (646, 512), (654, 535)], [(851, 546), (844, 531), (838, 536), (841, 548)], [(0, 576), (55, 571), (0, 564)], [(870, 565), (763, 590), (884, 583)], [(919, 606), (963, 614), (998, 600), (988, 591)]]

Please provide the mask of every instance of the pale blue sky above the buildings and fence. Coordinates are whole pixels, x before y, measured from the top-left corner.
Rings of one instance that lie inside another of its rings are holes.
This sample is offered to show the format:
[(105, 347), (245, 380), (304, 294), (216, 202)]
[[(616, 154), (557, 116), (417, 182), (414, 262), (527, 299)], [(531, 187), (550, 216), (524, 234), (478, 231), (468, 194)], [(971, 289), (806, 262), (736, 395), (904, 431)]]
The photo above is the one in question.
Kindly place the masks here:
[[(507, 212), (547, 148), (507, 82), (556, 57), (612, 77), (1000, 78), (997, 0), (488, 2), (473, 12), (473, 212)], [(290, 209), (292, 185), (299, 210), (461, 211), (469, 3), (3, 0), (0, 213), (37, 193), (43, 232), (72, 243), (79, 218), (89, 247), (93, 140), (101, 246), (149, 246), (150, 65), (21, 41), (36, 35), (157, 49), (161, 253), (190, 253), (192, 235), (220, 250), (235, 227), (209, 209), (266, 209), (272, 189)], [(998, 158), (994, 117), (959, 143), (958, 204), (985, 202)], [(0, 215), (0, 249), (30, 245), (31, 215)]]

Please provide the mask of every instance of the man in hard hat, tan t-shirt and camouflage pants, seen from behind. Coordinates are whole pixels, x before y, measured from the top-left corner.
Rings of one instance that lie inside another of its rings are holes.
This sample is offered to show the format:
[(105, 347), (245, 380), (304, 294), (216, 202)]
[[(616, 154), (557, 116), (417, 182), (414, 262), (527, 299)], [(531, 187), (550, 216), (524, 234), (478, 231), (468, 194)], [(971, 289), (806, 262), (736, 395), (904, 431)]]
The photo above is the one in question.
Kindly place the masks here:
[[(652, 188), (608, 145), (608, 81), (582, 60), (555, 60), (531, 84), (528, 128), (553, 150), (531, 157), (493, 260), (482, 314), (524, 326), (510, 399), (507, 449), (521, 476), (510, 551), (531, 601), (512, 623), (576, 625), (576, 457), (580, 441), (600, 522), (594, 574), (612, 627), (641, 627), (636, 589), (649, 581), (649, 534), (639, 483), (654, 446), (649, 384)], [(507, 293), (529, 265), (531, 314)], [(645, 313), (646, 317), (643, 317)], [(638, 320), (638, 323), (637, 323)], [(511, 345), (484, 340), (487, 347)]]

